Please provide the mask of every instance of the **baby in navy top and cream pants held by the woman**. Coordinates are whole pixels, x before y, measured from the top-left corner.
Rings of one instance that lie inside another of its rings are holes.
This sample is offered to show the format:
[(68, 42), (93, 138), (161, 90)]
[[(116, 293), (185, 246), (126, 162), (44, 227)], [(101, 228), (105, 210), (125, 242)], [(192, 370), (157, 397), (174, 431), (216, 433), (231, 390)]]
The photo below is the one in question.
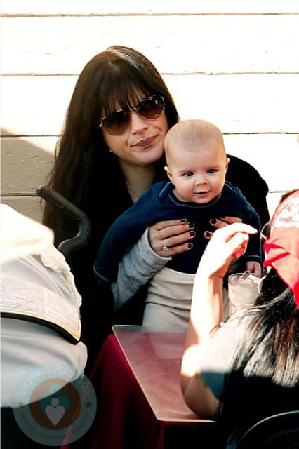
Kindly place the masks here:
[[(164, 149), (170, 181), (156, 182), (115, 220), (102, 241), (94, 269), (97, 279), (111, 284), (113, 291), (119, 263), (145, 229), (161, 220), (187, 217), (197, 229), (192, 248), (172, 255), (171, 239), (164, 239), (162, 249), (172, 257), (149, 281), (142, 320), (143, 326), (187, 328), (194, 275), (207, 244), (204, 235), (209, 228), (213, 232), (210, 220), (231, 216), (258, 230), (260, 220), (240, 190), (225, 182), (230, 159), (222, 133), (213, 123), (199, 119), (176, 123), (166, 133)], [(260, 276), (261, 260), (260, 239), (251, 236), (246, 254), (232, 272), (246, 270)], [(120, 306), (116, 300), (114, 309)]]

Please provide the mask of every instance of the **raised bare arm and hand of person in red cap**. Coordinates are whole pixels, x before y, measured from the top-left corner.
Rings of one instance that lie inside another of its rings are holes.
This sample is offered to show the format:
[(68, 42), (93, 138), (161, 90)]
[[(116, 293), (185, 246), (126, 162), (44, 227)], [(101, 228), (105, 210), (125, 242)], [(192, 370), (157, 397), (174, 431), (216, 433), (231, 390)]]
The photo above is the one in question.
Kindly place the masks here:
[(234, 222), (213, 232), (194, 279), (190, 321), (180, 380), (187, 405), (201, 417), (214, 417), (220, 403), (199, 371), (199, 361), (223, 318), (222, 278), (232, 260), (244, 254), (249, 234), (258, 232)]

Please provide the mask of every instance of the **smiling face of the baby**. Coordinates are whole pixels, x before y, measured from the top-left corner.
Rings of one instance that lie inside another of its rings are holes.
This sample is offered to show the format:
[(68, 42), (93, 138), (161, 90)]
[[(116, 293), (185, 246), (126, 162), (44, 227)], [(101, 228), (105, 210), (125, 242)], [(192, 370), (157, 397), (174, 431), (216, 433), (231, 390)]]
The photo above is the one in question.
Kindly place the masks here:
[[(168, 154), (168, 177), (180, 201), (206, 204), (222, 191), (228, 159), (218, 141), (208, 140), (196, 147), (178, 140)], [(190, 148), (188, 148), (190, 147)]]

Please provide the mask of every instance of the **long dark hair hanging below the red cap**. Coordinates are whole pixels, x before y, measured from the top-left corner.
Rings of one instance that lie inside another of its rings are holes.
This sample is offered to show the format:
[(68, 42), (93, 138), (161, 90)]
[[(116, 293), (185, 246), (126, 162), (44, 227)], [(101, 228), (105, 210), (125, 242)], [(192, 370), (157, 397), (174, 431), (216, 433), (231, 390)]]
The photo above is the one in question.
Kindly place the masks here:
[(226, 429), (241, 436), (254, 422), (298, 408), (299, 310), (274, 269), (248, 310), (246, 335), (227, 379), (222, 413)]

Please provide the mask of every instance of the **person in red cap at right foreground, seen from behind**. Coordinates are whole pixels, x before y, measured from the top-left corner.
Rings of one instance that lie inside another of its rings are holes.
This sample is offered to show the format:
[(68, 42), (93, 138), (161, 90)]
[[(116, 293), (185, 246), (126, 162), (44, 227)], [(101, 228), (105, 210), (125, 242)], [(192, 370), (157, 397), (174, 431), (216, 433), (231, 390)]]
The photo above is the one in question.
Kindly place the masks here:
[(259, 420), (298, 410), (299, 190), (277, 207), (264, 243), (255, 304), (222, 323), (222, 279), (232, 257), (244, 254), (256, 229), (234, 223), (217, 229), (194, 281), (181, 384), (187, 405), (222, 422), (227, 448)]

